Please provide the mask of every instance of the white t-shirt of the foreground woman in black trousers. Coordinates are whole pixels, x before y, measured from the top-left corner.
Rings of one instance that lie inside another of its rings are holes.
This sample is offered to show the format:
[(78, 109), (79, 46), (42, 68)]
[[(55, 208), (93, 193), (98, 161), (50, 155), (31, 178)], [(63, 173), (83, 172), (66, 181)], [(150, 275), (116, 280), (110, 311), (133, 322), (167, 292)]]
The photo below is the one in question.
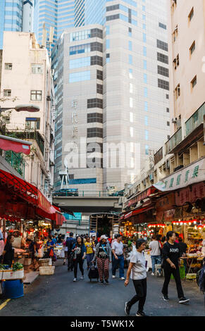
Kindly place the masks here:
[(132, 280), (144, 280), (147, 278), (147, 268), (144, 253), (139, 251), (132, 251), (130, 254), (130, 262), (135, 263), (131, 270)]

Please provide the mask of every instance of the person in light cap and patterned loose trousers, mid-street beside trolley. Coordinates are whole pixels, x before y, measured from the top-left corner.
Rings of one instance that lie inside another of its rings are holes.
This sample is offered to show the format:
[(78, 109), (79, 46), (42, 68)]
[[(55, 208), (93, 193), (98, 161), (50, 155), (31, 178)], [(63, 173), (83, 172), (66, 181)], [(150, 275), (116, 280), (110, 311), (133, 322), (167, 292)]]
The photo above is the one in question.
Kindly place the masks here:
[(95, 247), (94, 258), (92, 262), (97, 259), (97, 268), (99, 271), (99, 280), (101, 284), (108, 284), (109, 278), (109, 263), (111, 263), (111, 246), (107, 241), (106, 235), (101, 235), (100, 241)]

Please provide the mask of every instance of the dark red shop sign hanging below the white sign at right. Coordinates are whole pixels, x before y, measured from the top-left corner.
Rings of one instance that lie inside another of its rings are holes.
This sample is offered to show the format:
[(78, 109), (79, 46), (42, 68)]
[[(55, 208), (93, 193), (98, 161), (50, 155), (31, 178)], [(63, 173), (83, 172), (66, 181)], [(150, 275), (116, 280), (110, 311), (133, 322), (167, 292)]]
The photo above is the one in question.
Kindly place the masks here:
[(202, 199), (205, 196), (205, 184), (199, 182), (191, 188), (186, 187), (179, 192), (175, 192), (175, 203), (177, 206), (182, 206), (185, 202), (195, 202), (197, 199)]

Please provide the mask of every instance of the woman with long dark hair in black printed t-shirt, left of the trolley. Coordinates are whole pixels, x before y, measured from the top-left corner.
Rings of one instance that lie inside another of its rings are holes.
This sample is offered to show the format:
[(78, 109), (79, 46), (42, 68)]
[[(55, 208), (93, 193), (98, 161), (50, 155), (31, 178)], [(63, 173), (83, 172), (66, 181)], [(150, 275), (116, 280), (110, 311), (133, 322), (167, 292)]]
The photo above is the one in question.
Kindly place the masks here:
[(84, 279), (84, 270), (83, 270), (83, 262), (86, 256), (86, 248), (83, 242), (83, 238), (78, 236), (76, 242), (73, 244), (72, 251), (74, 253), (73, 256), (73, 266), (74, 266), (74, 278), (73, 282), (77, 282), (77, 264), (79, 264), (79, 268), (82, 276), (80, 277), (82, 280)]

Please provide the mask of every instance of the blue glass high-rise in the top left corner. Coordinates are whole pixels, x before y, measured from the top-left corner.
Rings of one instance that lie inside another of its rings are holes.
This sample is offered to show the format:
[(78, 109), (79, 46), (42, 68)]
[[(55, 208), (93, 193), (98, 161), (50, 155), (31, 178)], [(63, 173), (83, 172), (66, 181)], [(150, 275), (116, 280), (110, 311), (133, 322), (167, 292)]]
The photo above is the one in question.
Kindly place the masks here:
[(3, 46), (4, 31), (32, 32), (33, 1), (0, 1), (0, 49)]

